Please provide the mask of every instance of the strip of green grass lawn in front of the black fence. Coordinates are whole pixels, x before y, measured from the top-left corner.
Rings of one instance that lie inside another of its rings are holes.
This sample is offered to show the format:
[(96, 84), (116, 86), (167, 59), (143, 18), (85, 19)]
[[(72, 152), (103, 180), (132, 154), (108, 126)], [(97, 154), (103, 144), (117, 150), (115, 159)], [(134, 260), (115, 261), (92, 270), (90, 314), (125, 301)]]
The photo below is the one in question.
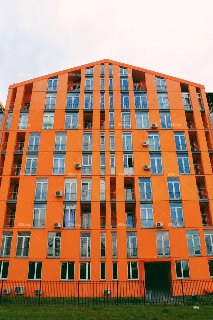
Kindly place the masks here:
[(0, 320), (211, 320), (213, 306), (0, 306)]

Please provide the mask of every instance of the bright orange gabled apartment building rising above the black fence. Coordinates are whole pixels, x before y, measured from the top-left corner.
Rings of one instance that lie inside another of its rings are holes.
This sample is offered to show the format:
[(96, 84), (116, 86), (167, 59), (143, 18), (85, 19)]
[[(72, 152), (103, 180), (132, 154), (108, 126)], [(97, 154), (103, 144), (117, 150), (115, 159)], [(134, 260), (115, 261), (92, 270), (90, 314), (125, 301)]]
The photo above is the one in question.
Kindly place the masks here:
[(0, 278), (213, 277), (201, 84), (101, 60), (9, 86)]

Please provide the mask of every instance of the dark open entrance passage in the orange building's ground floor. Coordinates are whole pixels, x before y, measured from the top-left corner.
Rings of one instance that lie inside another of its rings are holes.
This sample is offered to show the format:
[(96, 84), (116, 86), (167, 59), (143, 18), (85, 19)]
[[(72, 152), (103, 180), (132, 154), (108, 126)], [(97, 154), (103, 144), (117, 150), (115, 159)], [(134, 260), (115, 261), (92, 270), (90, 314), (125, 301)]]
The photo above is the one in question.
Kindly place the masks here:
[(166, 288), (171, 279), (170, 261), (145, 263), (146, 289)]

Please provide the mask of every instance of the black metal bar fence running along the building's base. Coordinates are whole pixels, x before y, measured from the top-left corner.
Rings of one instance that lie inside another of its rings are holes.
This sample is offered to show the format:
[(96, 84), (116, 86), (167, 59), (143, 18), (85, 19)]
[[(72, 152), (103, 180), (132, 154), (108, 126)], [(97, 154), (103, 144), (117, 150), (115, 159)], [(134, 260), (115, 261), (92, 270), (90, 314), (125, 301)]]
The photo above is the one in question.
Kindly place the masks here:
[(0, 304), (151, 305), (213, 303), (213, 279), (145, 281), (0, 281)]

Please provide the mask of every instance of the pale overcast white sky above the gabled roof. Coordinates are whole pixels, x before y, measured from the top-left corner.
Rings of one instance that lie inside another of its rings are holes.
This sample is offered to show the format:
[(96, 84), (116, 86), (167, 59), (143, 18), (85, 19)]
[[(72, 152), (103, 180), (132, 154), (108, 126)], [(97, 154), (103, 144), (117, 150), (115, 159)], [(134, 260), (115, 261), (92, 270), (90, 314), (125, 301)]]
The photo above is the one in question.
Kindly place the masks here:
[(0, 0), (0, 100), (8, 86), (102, 59), (213, 92), (212, 1)]

